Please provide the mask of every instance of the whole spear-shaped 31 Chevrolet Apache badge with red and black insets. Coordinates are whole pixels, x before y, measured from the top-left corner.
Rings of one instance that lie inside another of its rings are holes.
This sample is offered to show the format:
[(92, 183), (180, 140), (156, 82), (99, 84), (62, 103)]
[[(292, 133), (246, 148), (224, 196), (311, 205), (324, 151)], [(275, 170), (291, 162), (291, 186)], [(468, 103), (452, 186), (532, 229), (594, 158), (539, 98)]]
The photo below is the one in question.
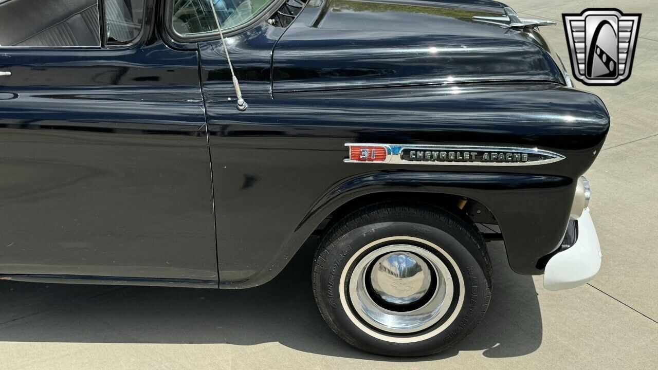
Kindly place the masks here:
[(345, 163), (392, 165), (532, 166), (565, 159), (552, 151), (528, 147), (470, 145), (393, 145), (347, 143)]

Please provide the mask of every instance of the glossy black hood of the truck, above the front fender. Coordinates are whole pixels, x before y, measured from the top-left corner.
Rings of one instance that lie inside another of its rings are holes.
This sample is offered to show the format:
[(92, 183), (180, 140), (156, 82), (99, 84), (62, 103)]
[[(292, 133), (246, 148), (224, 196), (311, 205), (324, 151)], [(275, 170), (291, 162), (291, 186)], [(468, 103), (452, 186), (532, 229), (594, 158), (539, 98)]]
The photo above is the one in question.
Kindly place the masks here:
[(545, 41), (473, 19), (496, 1), (309, 0), (273, 51), (274, 92), (542, 81), (563, 84)]

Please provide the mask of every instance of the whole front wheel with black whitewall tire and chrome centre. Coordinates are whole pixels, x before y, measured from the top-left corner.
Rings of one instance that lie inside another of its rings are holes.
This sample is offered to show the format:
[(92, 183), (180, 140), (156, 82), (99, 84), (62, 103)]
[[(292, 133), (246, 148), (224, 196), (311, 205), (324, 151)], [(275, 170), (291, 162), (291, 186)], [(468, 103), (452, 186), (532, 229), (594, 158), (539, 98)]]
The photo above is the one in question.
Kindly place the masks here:
[(315, 255), (313, 293), (349, 344), (424, 356), (447, 350), (482, 320), (491, 271), (471, 223), (429, 205), (382, 203), (328, 231)]

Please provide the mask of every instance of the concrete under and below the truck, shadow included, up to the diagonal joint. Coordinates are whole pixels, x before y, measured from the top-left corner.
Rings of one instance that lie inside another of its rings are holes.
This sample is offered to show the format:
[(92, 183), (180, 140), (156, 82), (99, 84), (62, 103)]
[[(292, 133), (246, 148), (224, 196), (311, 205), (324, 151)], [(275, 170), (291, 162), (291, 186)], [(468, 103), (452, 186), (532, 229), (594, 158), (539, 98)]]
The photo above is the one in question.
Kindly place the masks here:
[(0, 284), (0, 369), (651, 369), (658, 324), (586, 285), (547, 292), (491, 245), (495, 294), (454, 350), (372, 356), (326, 327), (309, 258), (242, 291)]

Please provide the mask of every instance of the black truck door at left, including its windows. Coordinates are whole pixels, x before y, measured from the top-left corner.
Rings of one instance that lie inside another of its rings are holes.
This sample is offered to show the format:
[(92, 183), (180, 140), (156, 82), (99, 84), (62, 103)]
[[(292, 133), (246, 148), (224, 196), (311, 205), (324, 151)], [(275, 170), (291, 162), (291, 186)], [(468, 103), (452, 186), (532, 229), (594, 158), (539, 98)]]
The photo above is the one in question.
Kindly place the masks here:
[(198, 54), (160, 11), (0, 2), (0, 274), (216, 286)]

